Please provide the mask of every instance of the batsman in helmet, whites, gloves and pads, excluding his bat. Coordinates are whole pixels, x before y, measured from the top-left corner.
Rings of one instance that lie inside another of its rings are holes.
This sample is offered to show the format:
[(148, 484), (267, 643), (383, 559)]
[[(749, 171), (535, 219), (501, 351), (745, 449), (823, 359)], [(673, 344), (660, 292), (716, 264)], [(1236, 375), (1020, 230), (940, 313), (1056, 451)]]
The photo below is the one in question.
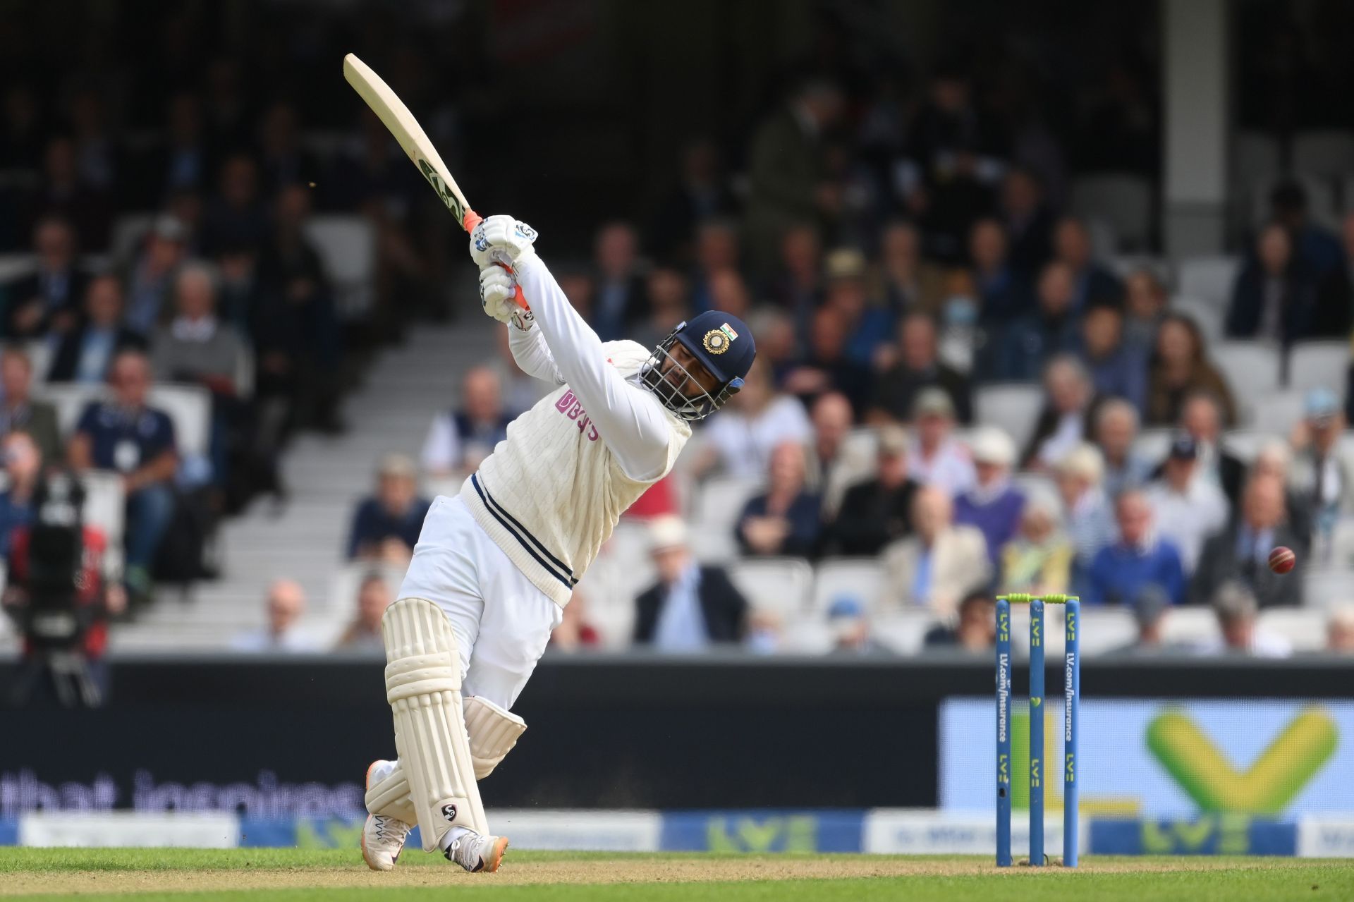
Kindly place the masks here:
[[(536, 232), (489, 217), (470, 236), (485, 313), (525, 372), (558, 386), (424, 520), (399, 599), (382, 620), (394, 761), (367, 769), (362, 852), (389, 871), (418, 825), (425, 852), (498, 869), (477, 780), (517, 744), (513, 702), (574, 585), (620, 515), (672, 470), (691, 424), (743, 385), (751, 330), (709, 312), (657, 348), (603, 344), (536, 256)], [(516, 302), (521, 288), (529, 312)]]

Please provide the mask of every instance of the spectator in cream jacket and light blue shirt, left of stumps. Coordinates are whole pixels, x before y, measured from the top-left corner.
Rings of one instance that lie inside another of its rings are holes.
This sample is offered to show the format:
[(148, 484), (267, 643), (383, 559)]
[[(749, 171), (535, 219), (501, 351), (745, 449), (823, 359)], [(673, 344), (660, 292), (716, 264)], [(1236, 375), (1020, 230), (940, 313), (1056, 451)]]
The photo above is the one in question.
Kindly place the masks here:
[(884, 600), (891, 607), (925, 605), (949, 616), (967, 593), (991, 580), (983, 534), (955, 525), (949, 496), (934, 486), (917, 490), (911, 515), (913, 535), (888, 544), (880, 558)]

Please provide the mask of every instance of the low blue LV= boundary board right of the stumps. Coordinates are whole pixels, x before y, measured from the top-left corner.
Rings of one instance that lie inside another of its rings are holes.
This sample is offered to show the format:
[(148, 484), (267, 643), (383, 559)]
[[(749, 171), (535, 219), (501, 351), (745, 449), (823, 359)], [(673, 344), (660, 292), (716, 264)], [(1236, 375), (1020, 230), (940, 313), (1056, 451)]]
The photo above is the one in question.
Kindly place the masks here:
[(1297, 855), (1297, 825), (1240, 814), (1189, 821), (1097, 819), (1090, 855)]

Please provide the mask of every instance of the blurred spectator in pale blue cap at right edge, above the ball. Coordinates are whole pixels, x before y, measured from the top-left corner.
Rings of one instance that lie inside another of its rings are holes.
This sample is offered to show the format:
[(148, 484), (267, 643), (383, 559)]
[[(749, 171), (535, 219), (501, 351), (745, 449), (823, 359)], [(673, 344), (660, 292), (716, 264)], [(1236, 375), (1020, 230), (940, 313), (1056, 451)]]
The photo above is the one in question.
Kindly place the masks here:
[(1312, 389), (1304, 400), (1303, 423), (1293, 429), (1289, 484), (1316, 520), (1316, 532), (1328, 538), (1340, 516), (1354, 511), (1354, 475), (1340, 455), (1345, 413), (1330, 389)]

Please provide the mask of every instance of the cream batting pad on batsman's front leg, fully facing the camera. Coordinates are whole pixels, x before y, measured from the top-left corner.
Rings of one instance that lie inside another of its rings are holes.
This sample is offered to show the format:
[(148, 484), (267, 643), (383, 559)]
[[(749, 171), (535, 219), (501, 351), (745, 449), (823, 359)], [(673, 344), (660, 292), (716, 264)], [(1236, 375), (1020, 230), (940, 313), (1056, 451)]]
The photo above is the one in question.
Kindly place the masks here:
[(451, 622), (427, 599), (399, 599), (380, 620), (386, 700), (424, 851), (452, 826), (489, 833), (460, 710), (460, 657)]

